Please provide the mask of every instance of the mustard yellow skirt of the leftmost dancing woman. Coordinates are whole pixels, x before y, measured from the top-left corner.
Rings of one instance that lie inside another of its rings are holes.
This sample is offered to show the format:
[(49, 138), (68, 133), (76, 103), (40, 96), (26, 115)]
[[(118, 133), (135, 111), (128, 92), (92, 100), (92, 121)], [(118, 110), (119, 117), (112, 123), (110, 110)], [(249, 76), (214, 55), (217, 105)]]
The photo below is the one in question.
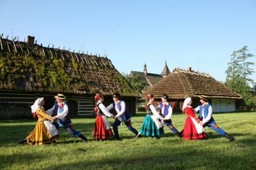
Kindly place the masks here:
[(45, 123), (43, 121), (39, 121), (36, 123), (35, 129), (26, 137), (26, 140), (29, 145), (41, 145), (55, 142), (58, 138), (59, 133), (51, 136), (50, 132), (45, 126)]

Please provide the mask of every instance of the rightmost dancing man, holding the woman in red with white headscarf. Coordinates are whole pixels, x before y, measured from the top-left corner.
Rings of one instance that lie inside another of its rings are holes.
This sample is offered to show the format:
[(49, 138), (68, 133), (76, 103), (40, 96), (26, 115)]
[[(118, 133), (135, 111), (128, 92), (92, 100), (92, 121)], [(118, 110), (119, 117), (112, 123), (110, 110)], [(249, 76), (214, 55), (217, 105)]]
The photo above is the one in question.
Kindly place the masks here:
[(208, 99), (205, 95), (199, 96), (200, 102), (202, 105), (199, 105), (194, 109), (194, 112), (197, 113), (199, 111), (198, 119), (200, 119), (201, 126), (205, 127), (208, 126), (212, 130), (216, 131), (220, 135), (224, 135), (226, 138), (229, 139), (230, 142), (234, 140), (232, 136), (230, 136), (228, 133), (226, 133), (224, 130), (219, 128), (216, 124), (216, 122), (213, 119), (212, 116), (212, 106), (209, 104)]

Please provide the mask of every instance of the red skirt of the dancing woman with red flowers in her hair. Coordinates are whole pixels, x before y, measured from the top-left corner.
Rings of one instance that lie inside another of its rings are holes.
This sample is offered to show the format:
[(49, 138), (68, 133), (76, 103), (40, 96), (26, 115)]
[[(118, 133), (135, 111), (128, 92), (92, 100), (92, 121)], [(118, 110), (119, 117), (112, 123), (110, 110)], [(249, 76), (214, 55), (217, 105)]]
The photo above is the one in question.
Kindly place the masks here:
[(93, 134), (96, 139), (106, 139), (108, 137), (114, 136), (111, 128), (106, 130), (105, 123), (102, 119), (102, 116), (100, 115), (96, 116)]

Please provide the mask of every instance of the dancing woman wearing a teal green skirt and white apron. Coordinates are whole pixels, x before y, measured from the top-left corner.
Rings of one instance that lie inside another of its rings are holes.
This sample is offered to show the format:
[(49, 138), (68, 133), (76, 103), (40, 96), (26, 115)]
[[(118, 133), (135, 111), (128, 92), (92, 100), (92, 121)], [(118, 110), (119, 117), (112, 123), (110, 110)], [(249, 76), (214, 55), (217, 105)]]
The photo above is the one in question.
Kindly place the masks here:
[(160, 114), (156, 111), (153, 102), (154, 95), (147, 95), (147, 116), (142, 123), (140, 131), (137, 135), (139, 137), (140, 134), (146, 136), (152, 136), (156, 138), (160, 138), (159, 136), (164, 134), (163, 122), (161, 121)]

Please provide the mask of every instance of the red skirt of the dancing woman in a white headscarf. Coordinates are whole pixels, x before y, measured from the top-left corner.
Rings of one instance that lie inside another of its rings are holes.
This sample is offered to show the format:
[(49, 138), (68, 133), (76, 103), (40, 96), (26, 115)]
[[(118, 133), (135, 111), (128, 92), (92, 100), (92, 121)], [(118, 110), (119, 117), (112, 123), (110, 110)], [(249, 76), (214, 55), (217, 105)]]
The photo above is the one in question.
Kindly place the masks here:
[(205, 132), (198, 134), (190, 116), (187, 116), (184, 129), (180, 132), (183, 139), (203, 139), (206, 137)]

